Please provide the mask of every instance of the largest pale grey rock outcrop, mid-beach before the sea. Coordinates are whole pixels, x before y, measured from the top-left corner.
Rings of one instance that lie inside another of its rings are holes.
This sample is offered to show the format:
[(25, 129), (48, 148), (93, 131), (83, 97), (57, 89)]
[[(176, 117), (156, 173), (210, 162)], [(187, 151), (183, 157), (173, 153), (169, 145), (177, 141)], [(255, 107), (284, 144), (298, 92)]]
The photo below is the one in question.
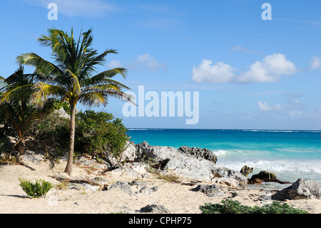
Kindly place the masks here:
[(248, 180), (240, 172), (218, 167), (217, 157), (208, 149), (191, 147), (160, 147), (148, 142), (136, 144), (136, 157), (158, 162), (161, 174), (175, 174), (179, 177), (205, 182), (218, 182), (232, 187), (245, 187)]

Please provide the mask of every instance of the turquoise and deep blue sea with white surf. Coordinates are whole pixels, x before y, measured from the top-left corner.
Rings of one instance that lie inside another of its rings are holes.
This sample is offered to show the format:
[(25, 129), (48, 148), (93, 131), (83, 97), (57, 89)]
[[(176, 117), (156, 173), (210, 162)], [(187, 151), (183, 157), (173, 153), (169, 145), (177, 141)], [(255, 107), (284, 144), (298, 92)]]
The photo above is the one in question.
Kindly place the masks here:
[(321, 131), (128, 129), (128, 136), (135, 144), (210, 149), (222, 167), (253, 167), (249, 177), (265, 170), (281, 181), (303, 178), (321, 184)]

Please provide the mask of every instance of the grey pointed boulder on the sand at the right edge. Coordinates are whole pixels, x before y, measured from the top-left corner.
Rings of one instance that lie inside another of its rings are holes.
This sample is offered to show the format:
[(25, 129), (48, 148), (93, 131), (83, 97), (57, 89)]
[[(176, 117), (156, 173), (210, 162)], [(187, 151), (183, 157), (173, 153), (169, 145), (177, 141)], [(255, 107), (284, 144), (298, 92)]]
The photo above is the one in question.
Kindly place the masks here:
[(272, 199), (321, 199), (321, 184), (313, 180), (297, 179), (290, 187), (272, 195)]

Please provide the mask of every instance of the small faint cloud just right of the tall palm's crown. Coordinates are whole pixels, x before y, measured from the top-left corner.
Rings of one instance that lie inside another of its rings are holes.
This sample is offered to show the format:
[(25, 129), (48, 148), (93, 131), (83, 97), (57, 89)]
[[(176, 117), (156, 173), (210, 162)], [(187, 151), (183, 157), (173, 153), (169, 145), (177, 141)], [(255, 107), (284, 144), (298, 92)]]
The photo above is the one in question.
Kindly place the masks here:
[(158, 62), (151, 54), (142, 54), (135, 61), (126, 63), (128, 69), (136, 69), (139, 71), (165, 71), (166, 65)]

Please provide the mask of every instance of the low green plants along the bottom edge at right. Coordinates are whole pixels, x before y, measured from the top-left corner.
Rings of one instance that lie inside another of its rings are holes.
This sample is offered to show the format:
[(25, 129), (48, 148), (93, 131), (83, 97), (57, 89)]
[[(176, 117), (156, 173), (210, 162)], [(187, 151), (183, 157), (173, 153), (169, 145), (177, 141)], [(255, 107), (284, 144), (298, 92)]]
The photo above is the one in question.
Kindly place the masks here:
[(248, 207), (240, 204), (237, 200), (222, 200), (222, 204), (205, 204), (200, 206), (202, 214), (308, 214), (301, 209), (295, 209), (287, 204), (273, 202), (263, 207)]

